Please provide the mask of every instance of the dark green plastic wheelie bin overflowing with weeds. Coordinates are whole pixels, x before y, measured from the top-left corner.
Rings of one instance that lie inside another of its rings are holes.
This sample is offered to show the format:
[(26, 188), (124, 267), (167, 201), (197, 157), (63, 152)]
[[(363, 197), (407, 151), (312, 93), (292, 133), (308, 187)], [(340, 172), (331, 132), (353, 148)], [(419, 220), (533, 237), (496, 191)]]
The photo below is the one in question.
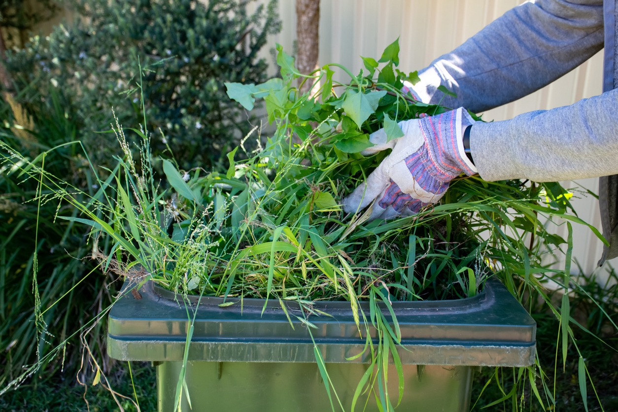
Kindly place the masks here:
[[(150, 281), (140, 292), (140, 300), (123, 293), (109, 314), (109, 356), (152, 361), (158, 410), (171, 412), (190, 322), (180, 296)], [(202, 298), (198, 309), (186, 372), (192, 410), (331, 410), (307, 329), (300, 322), (292, 329), (277, 300), (269, 301), (263, 314), (260, 299), (243, 300), (242, 314), (240, 301), (219, 308), (222, 301)], [(195, 308), (197, 296), (190, 297), (190, 305)], [(294, 302), (287, 305), (298, 312)], [(368, 313), (368, 306), (361, 306)], [(365, 342), (348, 302), (315, 307), (333, 316), (309, 320), (318, 327), (313, 337), (339, 399), (350, 410), (370, 355), (346, 360), (360, 353)], [(398, 349), (405, 377), (398, 411), (468, 411), (473, 368), (534, 363), (536, 324), (497, 280), (489, 280), (485, 292), (473, 298), (394, 302), (393, 308), (404, 346)], [(389, 367), (389, 393), (395, 404), (394, 365)], [(365, 400), (357, 410), (363, 410)], [(182, 410), (190, 411), (185, 396), (183, 402)], [(365, 410), (378, 411), (373, 396)]]

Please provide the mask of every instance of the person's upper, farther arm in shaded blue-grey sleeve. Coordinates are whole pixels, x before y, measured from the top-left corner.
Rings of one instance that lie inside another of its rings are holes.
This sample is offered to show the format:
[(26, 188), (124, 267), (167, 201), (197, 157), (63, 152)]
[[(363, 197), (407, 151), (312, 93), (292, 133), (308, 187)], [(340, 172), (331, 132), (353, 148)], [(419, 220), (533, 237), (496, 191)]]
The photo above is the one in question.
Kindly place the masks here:
[(486, 111), (548, 85), (602, 48), (602, 0), (526, 2), (431, 62), (414, 91), (424, 103), (444, 97), (443, 106)]

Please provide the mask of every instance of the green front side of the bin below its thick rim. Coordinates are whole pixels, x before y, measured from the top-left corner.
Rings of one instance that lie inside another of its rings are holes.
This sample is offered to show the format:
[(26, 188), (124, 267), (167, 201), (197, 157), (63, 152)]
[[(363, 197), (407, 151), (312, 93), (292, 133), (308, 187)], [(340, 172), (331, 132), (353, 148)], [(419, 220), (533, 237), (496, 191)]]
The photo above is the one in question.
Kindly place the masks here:
[[(157, 366), (159, 412), (174, 408), (181, 362)], [(327, 363), (326, 370), (345, 410), (368, 364)], [(397, 405), (397, 372), (389, 368), (388, 392)], [(331, 405), (315, 363), (190, 362), (186, 371), (193, 411), (329, 411)], [(404, 365), (404, 396), (397, 410), (465, 412), (472, 387), (470, 366)], [(376, 384), (377, 391), (377, 384)], [(337, 406), (336, 397), (333, 402)], [(362, 410), (367, 394), (359, 398)], [(373, 393), (368, 412), (378, 412)], [(182, 411), (191, 411), (182, 397)]]

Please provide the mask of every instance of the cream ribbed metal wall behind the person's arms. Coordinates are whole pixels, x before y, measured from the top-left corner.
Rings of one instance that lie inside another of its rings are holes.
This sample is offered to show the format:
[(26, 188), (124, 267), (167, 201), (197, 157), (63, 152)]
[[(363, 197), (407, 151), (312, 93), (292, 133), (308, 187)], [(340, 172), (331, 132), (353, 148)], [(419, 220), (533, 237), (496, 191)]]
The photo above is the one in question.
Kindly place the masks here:
[[(358, 72), (362, 67), (358, 56), (379, 57), (387, 44), (399, 37), (399, 68), (418, 70), (521, 3), (517, 0), (322, 0), (319, 59), (321, 63), (337, 62)], [(293, 51), (295, 1), (279, 0), (279, 14), (282, 31), (270, 39), (263, 52), (269, 62), (272, 62), (269, 49), (274, 48), (275, 42), (282, 44), (288, 53)], [(600, 94), (602, 57), (601, 51), (551, 85), (488, 111), (483, 118), (510, 119), (523, 112), (565, 106)], [(345, 81), (345, 78), (339, 80)], [(598, 179), (563, 183), (565, 187), (585, 187), (596, 193)], [(595, 198), (578, 198), (573, 203), (582, 219), (601, 229)], [(567, 237), (565, 225), (555, 229), (556, 233)], [(596, 269), (602, 245), (589, 229), (574, 225), (573, 256), (586, 274), (598, 271), (599, 280), (605, 273), (604, 268)], [(618, 259), (611, 263), (617, 266)], [(564, 267), (564, 258), (556, 267)], [(577, 266), (573, 266), (572, 272), (578, 272)]]

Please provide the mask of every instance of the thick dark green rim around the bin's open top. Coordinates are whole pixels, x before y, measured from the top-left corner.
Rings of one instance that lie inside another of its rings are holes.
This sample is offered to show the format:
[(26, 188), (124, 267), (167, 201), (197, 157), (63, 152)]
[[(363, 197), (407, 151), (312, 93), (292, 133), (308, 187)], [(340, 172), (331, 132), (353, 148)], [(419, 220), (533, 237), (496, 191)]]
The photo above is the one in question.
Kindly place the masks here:
[[(131, 286), (131, 287), (129, 287)], [(182, 361), (187, 330), (195, 315), (190, 361), (315, 362), (313, 341), (295, 301), (284, 301), (294, 328), (278, 300), (231, 299), (174, 294), (151, 280), (136, 299), (125, 282), (109, 313), (108, 353), (119, 360)], [(199, 300), (199, 307), (198, 307)], [(392, 303), (405, 364), (530, 366), (535, 361), (536, 323), (504, 285), (489, 279), (471, 298)], [(347, 301), (323, 301), (315, 309), (331, 316), (308, 316), (311, 334), (324, 361), (370, 363)], [(368, 303), (360, 309), (369, 319)], [(391, 319), (383, 305), (386, 319)], [(375, 329), (370, 333), (375, 337)], [(377, 343), (377, 340), (374, 340)]]

